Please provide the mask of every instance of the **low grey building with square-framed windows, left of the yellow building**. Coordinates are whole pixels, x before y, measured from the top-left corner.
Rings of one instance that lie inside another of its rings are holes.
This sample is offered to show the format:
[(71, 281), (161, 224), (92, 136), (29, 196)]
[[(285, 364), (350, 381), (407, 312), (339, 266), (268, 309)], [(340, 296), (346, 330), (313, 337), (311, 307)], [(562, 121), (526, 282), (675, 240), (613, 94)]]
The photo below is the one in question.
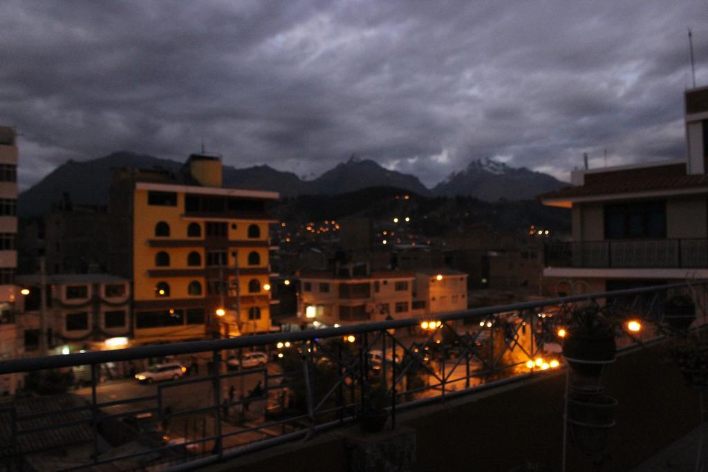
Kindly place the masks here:
[(132, 328), (130, 280), (106, 274), (47, 276), (42, 313), (41, 278), (19, 275), (18, 300), (25, 354), (39, 354), (40, 317), (45, 317), (50, 353), (127, 347)]

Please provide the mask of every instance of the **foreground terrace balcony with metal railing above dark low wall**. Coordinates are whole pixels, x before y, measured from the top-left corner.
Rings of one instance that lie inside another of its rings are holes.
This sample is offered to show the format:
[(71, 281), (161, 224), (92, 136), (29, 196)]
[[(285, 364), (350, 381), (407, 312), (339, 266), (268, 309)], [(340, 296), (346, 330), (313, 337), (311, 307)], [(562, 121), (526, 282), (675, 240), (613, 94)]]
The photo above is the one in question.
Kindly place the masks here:
[[(609, 307), (622, 323), (632, 317), (647, 326), (617, 331), (617, 362), (603, 374), (620, 405), (610, 468), (632, 470), (697, 425), (697, 394), (680, 385), (678, 369), (661, 362), (667, 289), (705, 285), (493, 306), (435, 316), (426, 328), (410, 318), (0, 362), (0, 375), (44, 372), (52, 384), (33, 381), (42, 388), (81, 384), (0, 404), (0, 464), (52, 471), (362, 470), (348, 467), (352, 442), (403, 436), (417, 443), (416, 470), (468, 470), (472, 463), (479, 470), (527, 470), (519, 467), (529, 462), (557, 470), (566, 456), (558, 337), (564, 310), (612, 299), (624, 300)], [(251, 350), (266, 352), (267, 362), (247, 366)], [(146, 369), (155, 358), (180, 362), (189, 374), (137, 384), (130, 367)], [(385, 388), (387, 430), (362, 439), (348, 426), (374, 381)], [(566, 459), (566, 470), (596, 470), (570, 445)], [(244, 460), (250, 465), (239, 464)], [(217, 465), (223, 461), (229, 464)]]

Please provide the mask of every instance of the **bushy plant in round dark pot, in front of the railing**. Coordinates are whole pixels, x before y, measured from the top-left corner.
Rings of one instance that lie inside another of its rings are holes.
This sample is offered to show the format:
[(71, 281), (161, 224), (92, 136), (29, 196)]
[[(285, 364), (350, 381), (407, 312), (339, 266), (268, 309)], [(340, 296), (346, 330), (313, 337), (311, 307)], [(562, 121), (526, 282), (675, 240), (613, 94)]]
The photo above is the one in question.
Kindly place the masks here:
[(573, 307), (566, 319), (563, 356), (581, 376), (599, 376), (605, 364), (614, 362), (615, 326), (598, 306)]

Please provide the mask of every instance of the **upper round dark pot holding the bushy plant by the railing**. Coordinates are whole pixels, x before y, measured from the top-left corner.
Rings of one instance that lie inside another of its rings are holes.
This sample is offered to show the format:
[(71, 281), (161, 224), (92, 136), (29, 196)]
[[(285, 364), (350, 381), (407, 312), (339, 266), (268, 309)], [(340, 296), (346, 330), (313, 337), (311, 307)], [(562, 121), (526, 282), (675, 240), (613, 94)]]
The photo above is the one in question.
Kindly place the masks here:
[(563, 343), (563, 357), (576, 374), (597, 377), (605, 364), (615, 362), (617, 344), (612, 337), (569, 335)]

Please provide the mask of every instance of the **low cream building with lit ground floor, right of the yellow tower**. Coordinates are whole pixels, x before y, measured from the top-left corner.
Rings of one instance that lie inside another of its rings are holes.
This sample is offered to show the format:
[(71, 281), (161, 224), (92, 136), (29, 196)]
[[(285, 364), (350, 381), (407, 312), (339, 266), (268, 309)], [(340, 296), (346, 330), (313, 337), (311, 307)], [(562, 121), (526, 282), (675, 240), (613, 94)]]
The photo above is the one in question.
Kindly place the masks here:
[(415, 280), (413, 272), (371, 271), (365, 263), (304, 271), (298, 318), (316, 327), (410, 318)]

